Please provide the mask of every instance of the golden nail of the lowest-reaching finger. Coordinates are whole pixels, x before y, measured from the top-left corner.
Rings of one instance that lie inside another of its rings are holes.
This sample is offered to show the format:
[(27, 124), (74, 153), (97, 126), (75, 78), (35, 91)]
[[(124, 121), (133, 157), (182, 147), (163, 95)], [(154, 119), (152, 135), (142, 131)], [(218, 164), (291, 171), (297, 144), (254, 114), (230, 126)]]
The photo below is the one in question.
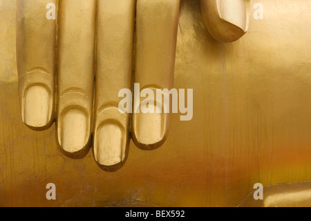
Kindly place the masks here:
[(95, 160), (102, 166), (114, 166), (124, 161), (125, 143), (122, 141), (121, 128), (113, 123), (107, 123), (97, 134)]

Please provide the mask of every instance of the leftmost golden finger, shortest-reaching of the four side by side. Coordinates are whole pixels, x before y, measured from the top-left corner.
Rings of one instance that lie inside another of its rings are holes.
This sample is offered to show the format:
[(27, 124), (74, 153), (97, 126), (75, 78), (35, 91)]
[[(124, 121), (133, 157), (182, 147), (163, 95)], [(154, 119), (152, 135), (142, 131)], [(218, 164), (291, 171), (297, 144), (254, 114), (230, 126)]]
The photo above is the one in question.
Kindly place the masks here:
[[(17, 1), (17, 70), (23, 123), (45, 130), (53, 123), (55, 100), (56, 1)], [(53, 17), (52, 16), (52, 17)]]

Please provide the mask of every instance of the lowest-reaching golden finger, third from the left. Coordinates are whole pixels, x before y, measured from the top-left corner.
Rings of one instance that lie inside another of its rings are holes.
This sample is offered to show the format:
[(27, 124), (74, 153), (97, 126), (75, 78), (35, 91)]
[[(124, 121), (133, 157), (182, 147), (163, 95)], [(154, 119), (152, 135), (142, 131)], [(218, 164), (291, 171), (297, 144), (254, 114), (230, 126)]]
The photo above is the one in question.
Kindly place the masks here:
[(120, 112), (118, 105), (123, 99), (119, 97), (120, 91), (132, 87), (135, 3), (97, 2), (93, 153), (97, 164), (106, 171), (121, 168), (129, 152), (130, 113)]

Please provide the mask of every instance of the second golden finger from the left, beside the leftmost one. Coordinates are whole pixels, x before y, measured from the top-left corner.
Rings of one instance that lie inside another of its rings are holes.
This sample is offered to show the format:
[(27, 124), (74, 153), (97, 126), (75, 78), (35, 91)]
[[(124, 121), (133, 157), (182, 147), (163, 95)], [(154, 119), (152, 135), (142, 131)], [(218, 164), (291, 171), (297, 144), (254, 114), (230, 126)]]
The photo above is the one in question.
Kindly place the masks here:
[(83, 157), (92, 129), (95, 0), (59, 1), (57, 141), (68, 157)]

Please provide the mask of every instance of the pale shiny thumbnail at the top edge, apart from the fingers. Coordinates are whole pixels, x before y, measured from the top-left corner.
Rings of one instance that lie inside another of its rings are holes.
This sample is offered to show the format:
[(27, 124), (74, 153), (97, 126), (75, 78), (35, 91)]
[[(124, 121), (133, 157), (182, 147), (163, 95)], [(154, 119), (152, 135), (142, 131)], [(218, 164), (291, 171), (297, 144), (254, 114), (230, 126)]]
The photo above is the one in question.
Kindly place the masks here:
[(220, 17), (244, 32), (247, 30), (247, 11), (244, 0), (217, 0)]

